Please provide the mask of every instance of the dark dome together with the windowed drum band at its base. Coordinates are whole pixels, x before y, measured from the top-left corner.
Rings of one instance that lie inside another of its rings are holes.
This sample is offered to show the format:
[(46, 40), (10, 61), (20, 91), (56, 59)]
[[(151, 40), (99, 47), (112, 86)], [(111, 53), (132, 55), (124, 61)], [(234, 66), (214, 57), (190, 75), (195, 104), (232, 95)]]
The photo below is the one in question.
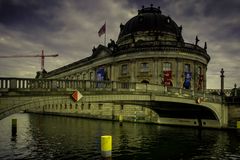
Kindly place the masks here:
[[(136, 40), (167, 40), (180, 41), (182, 38), (182, 27), (169, 17), (162, 14), (160, 7), (155, 8), (153, 5), (138, 10), (138, 15), (131, 18), (125, 25), (120, 25), (120, 34), (118, 44), (123, 45), (130, 42), (129, 38), (135, 37)], [(140, 37), (146, 37), (146, 39)], [(149, 37), (150, 36), (150, 37)]]

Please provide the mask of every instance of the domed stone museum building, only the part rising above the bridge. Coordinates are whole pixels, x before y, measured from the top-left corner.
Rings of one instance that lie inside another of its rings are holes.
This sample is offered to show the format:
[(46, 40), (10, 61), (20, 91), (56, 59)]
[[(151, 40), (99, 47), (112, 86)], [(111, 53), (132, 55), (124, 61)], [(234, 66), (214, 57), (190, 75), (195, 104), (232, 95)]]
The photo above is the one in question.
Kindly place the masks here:
[(153, 6), (120, 25), (116, 43), (92, 49), (92, 55), (53, 70), (45, 78), (110, 80), (206, 89), (210, 60), (205, 47), (185, 43), (182, 27)]

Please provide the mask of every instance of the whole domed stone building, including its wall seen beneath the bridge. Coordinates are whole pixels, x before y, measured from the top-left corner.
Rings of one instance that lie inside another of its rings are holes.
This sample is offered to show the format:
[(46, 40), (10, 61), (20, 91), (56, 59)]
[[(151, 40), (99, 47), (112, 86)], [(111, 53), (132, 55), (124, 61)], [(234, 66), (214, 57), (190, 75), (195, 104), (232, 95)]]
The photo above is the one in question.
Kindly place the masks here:
[[(107, 46), (94, 47), (91, 56), (42, 76), (47, 79), (149, 83), (201, 92), (206, 89), (210, 56), (206, 43), (202, 48), (198, 41), (196, 37), (194, 44), (184, 42), (182, 26), (163, 15), (160, 8), (151, 5), (140, 9), (125, 24), (120, 24), (116, 42), (111, 40)], [(74, 103), (68, 100), (43, 107), (32, 111), (109, 120), (118, 120), (122, 115), (124, 120), (134, 122), (199, 125), (199, 120), (189, 117), (193, 114), (190, 111), (181, 111), (184, 114), (176, 111), (177, 116), (168, 117), (169, 113), (159, 115), (151, 108), (136, 104), (81, 100)], [(211, 116), (205, 119), (205, 126), (217, 126), (218, 122), (210, 119)]]

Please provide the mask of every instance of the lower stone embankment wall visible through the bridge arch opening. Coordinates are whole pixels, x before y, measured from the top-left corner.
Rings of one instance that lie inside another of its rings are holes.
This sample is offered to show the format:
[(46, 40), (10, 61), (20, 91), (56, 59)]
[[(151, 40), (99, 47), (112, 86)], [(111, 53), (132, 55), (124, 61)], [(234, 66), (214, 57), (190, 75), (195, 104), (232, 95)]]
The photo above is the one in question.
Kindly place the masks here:
[(72, 117), (94, 118), (119, 121), (158, 123), (159, 116), (153, 110), (137, 105), (116, 105), (113, 103), (73, 103), (71, 100), (66, 103), (48, 103), (28, 109), (28, 112), (64, 115)]

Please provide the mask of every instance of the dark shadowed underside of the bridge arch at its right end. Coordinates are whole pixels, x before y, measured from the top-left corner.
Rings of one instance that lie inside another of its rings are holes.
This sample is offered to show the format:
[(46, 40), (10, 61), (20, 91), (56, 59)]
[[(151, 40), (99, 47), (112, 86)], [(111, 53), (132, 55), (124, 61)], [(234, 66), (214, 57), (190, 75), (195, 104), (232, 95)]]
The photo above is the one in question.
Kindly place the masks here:
[[(221, 116), (215, 108), (205, 105), (188, 104), (179, 102), (165, 102), (165, 101), (115, 101), (115, 104), (120, 105), (136, 105), (146, 107), (153, 110), (161, 118), (177, 118), (197, 121), (197, 126), (213, 125), (218, 128), (221, 127)], [(161, 121), (161, 120), (159, 120)], [(212, 124), (209, 124), (212, 123)], [(160, 122), (161, 124), (161, 122)]]

